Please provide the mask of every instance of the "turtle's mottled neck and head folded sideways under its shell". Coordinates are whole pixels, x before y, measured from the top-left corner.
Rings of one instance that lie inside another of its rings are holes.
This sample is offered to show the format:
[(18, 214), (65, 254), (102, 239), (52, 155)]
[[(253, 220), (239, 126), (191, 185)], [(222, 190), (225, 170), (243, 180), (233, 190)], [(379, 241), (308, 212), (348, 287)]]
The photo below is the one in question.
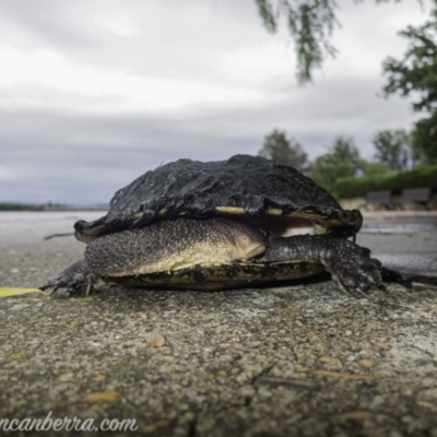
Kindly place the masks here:
[(97, 238), (87, 245), (85, 260), (94, 274), (113, 277), (201, 263), (246, 262), (264, 251), (264, 237), (246, 223), (178, 218)]

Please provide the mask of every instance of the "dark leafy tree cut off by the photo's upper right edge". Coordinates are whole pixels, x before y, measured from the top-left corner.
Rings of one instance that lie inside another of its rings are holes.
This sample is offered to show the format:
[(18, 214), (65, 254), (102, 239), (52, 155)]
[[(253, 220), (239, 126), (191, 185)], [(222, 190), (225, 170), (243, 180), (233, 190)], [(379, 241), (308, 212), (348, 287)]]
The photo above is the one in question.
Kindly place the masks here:
[(437, 0), (430, 20), (400, 33), (409, 40), (402, 60), (389, 57), (383, 62), (386, 96), (413, 95), (413, 110), (427, 117), (415, 123), (412, 147), (416, 156), (437, 160)]

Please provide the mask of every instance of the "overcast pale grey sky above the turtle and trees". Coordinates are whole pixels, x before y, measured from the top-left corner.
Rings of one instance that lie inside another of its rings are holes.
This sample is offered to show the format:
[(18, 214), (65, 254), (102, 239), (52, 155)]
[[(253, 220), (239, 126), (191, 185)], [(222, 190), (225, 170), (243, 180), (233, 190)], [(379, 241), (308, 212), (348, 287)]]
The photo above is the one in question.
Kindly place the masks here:
[(255, 0), (0, 0), (0, 202), (93, 204), (163, 163), (257, 154), (275, 128), (310, 160), (338, 135), (409, 129), (381, 63), (429, 2), (338, 0), (339, 50), (302, 86)]

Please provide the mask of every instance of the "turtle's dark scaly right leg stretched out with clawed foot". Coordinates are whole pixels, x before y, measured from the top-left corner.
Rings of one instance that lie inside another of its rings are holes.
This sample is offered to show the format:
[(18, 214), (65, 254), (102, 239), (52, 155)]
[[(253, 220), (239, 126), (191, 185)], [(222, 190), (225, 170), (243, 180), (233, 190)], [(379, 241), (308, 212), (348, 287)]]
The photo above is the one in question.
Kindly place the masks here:
[(262, 261), (316, 261), (336, 281), (340, 288), (354, 296), (363, 296), (370, 286), (383, 288), (381, 263), (370, 258), (370, 250), (346, 239), (327, 235), (270, 237), (270, 247)]

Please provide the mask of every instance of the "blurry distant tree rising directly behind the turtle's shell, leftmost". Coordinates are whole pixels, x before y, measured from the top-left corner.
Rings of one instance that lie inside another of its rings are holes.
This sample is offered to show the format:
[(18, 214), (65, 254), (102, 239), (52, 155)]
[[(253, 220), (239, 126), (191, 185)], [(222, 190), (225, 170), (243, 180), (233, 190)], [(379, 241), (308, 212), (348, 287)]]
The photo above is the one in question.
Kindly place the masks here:
[(285, 132), (277, 129), (274, 129), (270, 135), (264, 138), (264, 143), (258, 155), (280, 164), (290, 165), (304, 173), (308, 169), (308, 156), (302, 145), (295, 139), (288, 140)]

